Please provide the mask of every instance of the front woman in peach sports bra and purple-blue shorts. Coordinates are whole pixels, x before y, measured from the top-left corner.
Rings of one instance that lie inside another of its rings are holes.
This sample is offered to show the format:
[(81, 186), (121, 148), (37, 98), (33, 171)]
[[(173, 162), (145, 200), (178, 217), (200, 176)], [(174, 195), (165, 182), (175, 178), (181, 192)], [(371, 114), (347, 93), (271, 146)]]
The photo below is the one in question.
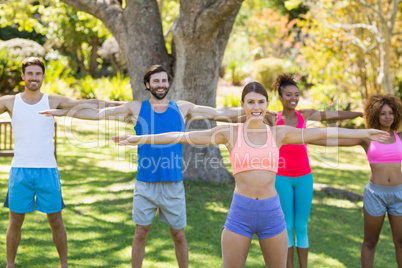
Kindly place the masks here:
[(230, 151), (236, 185), (222, 231), (223, 267), (244, 267), (252, 235), (257, 234), (266, 266), (284, 268), (288, 236), (275, 190), (279, 148), (284, 144), (303, 144), (338, 135), (342, 138), (364, 137), (381, 141), (388, 139), (389, 135), (379, 130), (269, 127), (263, 121), (269, 104), (268, 95), (257, 82), (244, 87), (241, 100), (247, 118), (244, 124), (227, 124), (203, 131), (125, 135), (113, 137), (113, 140), (120, 145), (226, 145)]

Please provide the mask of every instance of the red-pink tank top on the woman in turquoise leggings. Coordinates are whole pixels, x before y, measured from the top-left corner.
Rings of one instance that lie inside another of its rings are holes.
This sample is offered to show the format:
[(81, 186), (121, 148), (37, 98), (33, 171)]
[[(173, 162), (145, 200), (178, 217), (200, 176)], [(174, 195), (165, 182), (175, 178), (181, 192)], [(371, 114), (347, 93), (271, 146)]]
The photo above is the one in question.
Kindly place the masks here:
[[(303, 116), (295, 110), (298, 124), (296, 128), (306, 128)], [(278, 112), (277, 125), (284, 125), (282, 111)], [(286, 177), (300, 177), (311, 173), (310, 163), (307, 156), (307, 144), (282, 145), (279, 150), (278, 175)]]

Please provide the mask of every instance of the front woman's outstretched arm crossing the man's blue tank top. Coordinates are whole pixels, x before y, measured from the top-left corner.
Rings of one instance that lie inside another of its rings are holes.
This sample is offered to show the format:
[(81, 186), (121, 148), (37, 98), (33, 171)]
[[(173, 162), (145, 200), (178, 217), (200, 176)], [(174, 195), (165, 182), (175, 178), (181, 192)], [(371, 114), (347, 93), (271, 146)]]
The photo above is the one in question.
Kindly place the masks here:
[(227, 133), (231, 126), (218, 126), (212, 129), (190, 132), (166, 132), (156, 135), (142, 136), (115, 136), (112, 140), (119, 145), (138, 144), (192, 144), (192, 145), (216, 145), (227, 143)]

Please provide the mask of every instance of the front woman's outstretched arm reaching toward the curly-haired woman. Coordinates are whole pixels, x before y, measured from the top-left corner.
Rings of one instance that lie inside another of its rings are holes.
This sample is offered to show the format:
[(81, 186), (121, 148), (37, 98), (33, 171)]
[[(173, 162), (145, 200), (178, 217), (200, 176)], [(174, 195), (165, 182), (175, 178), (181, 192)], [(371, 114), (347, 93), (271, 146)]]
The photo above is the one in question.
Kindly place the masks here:
[[(303, 144), (332, 138), (368, 139), (384, 142), (390, 137), (388, 132), (378, 129), (347, 129), (336, 127), (300, 129), (289, 126), (279, 126), (279, 128), (278, 130), (285, 132), (281, 144)], [(357, 140), (355, 142), (357, 142)]]

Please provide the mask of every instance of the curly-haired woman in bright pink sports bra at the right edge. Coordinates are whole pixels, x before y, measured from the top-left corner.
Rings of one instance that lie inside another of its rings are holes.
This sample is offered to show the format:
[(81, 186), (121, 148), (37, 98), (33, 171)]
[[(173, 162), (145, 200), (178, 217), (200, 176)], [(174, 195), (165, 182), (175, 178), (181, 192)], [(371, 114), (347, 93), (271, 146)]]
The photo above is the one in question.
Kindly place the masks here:
[(364, 105), (364, 116), (366, 127), (387, 131), (390, 138), (385, 142), (360, 138), (309, 143), (326, 146), (360, 145), (366, 151), (371, 173), (363, 194), (362, 267), (373, 267), (375, 248), (387, 213), (396, 261), (398, 267), (402, 267), (402, 132), (396, 133), (402, 119), (401, 101), (391, 95), (371, 96)]

